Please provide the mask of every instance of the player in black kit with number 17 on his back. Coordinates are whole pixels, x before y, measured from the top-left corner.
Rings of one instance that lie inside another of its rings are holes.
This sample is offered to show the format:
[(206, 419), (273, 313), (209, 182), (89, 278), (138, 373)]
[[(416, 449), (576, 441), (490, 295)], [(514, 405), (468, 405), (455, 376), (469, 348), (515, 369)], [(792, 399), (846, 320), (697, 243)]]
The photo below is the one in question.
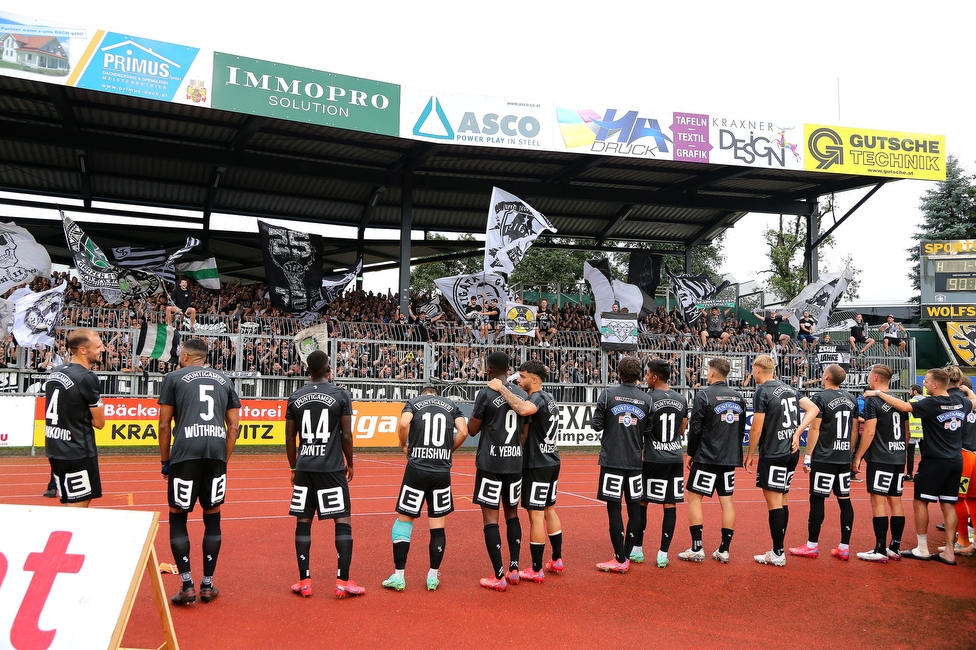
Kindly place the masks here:
[(824, 502), (831, 492), (840, 506), (840, 544), (830, 554), (840, 560), (850, 558), (854, 507), (851, 505), (851, 463), (853, 431), (857, 420), (857, 399), (841, 390), (847, 373), (837, 364), (824, 369), (824, 389), (804, 402), (805, 411), (796, 435), (807, 433), (807, 454), (803, 471), (810, 474), (810, 517), (807, 520), (807, 543), (790, 549), (791, 555), (815, 558), (820, 555), (820, 528), (824, 520)]

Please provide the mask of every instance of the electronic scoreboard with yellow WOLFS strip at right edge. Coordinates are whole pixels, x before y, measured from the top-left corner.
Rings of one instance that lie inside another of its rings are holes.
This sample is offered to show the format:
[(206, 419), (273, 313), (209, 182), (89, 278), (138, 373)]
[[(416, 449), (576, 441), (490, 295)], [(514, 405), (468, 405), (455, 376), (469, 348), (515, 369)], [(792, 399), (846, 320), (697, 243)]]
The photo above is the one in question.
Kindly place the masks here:
[(923, 241), (919, 249), (922, 318), (976, 318), (976, 240)]

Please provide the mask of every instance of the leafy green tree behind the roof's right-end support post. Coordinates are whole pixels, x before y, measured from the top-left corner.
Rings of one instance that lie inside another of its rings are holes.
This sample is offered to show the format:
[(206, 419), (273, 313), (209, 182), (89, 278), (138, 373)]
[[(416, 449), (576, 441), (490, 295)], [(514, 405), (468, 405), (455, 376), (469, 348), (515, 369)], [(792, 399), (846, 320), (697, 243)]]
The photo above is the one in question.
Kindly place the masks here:
[[(822, 218), (827, 214), (833, 214), (836, 207), (832, 194), (821, 200), (817, 214), (820, 225), (819, 233), (826, 230)], [(803, 255), (807, 243), (807, 218), (780, 215), (779, 226), (766, 228), (763, 231), (763, 238), (769, 247), (766, 251), (766, 257), (769, 258), (770, 262), (770, 268), (762, 271), (762, 273), (770, 274), (766, 282), (766, 289), (780, 300), (789, 301), (800, 293), (807, 284), (810, 260)], [(831, 235), (820, 243), (817, 250), (823, 254), (834, 243), (833, 235)], [(851, 268), (854, 279), (851, 280), (847, 291), (844, 292), (843, 299), (853, 300), (858, 297), (860, 280), (857, 279), (857, 276), (860, 274), (860, 270), (853, 265), (853, 258), (850, 255), (844, 258), (844, 265)]]

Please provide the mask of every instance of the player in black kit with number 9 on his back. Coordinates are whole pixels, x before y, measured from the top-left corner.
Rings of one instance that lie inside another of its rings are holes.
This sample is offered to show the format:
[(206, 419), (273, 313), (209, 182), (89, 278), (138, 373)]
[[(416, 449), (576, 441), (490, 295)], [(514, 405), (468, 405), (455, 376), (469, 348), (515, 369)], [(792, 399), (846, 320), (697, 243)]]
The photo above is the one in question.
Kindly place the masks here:
[[(488, 376), (504, 381), (508, 375), (508, 355), (492, 352), (488, 355)], [(518, 386), (506, 386), (521, 399), (527, 396)], [(468, 419), (468, 435), (484, 433), (478, 441), (475, 456), (474, 498), (481, 506), (485, 525), (485, 546), (494, 569), (494, 576), (482, 578), (481, 586), (505, 591), (508, 582), (518, 584), (519, 550), (522, 545), (522, 526), (518, 518), (518, 502), (522, 497), (522, 444), (524, 421), (508, 405), (505, 396), (491, 388), (482, 388), (474, 399)], [(498, 531), (498, 511), (505, 514), (505, 527), (510, 556), (506, 579), (502, 565), (502, 540)]]

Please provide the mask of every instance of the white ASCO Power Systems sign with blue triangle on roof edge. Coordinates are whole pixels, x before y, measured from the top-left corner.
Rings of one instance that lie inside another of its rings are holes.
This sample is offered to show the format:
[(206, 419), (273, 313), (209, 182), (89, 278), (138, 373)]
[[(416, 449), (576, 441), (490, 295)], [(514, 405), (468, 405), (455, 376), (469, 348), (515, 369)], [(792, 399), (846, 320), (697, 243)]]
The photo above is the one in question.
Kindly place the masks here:
[(551, 102), (403, 87), (400, 107), (404, 138), (506, 149), (552, 148)]

